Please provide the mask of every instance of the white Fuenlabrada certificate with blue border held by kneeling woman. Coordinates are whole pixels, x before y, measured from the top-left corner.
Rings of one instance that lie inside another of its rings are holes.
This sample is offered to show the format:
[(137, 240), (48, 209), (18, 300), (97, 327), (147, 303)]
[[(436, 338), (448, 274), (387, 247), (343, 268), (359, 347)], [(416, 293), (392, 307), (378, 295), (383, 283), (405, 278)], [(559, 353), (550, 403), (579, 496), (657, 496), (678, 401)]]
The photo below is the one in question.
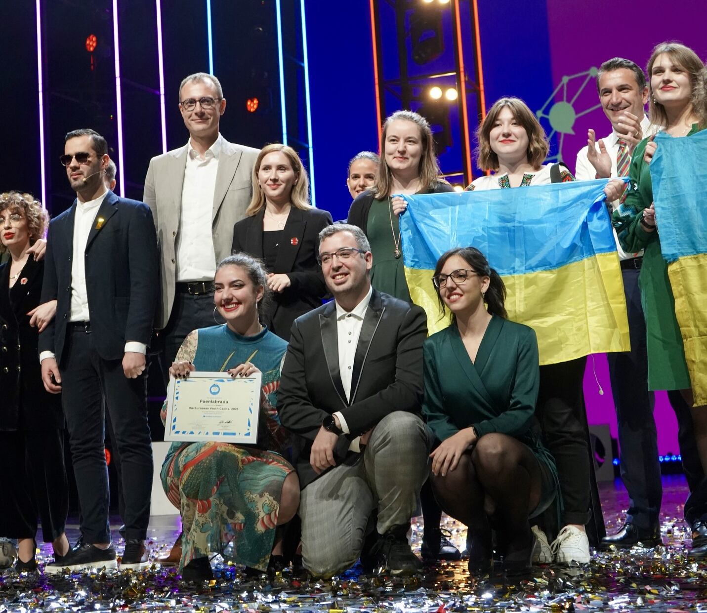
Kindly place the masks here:
[(257, 443), (262, 373), (189, 373), (170, 380), (165, 440)]

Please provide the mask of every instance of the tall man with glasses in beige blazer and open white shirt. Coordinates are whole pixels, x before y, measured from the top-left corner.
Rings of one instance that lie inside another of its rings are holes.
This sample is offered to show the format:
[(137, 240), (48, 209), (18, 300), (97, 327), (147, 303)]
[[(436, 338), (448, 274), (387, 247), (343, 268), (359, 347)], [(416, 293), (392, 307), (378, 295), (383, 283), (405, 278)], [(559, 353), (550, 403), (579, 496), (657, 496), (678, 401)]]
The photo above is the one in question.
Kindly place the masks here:
[(179, 92), (189, 142), (152, 158), (143, 197), (160, 245), (162, 296), (155, 327), (162, 337), (165, 383), (187, 334), (215, 323), (211, 282), (216, 264), (230, 255), (235, 222), (245, 217), (258, 154), (219, 134), (226, 98), (218, 78), (190, 74)]

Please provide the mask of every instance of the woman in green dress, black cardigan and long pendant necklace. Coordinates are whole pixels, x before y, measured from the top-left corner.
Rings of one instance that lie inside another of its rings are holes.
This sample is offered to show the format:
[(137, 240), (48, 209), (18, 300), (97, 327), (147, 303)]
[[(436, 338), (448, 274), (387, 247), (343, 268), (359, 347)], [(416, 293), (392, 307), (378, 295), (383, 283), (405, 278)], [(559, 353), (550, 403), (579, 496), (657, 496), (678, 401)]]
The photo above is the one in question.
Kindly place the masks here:
[[(375, 183), (360, 194), (349, 209), (349, 223), (366, 233), (373, 253), (370, 284), (378, 291), (412, 302), (402, 261), (398, 217), (405, 201), (392, 194), (452, 192), (440, 179), (435, 143), (427, 120), (416, 112), (400, 110), (385, 119), (382, 152)], [(460, 551), (440, 531), (442, 510), (429, 482), (420, 494), (425, 530), (421, 555), (424, 561), (458, 560)]]

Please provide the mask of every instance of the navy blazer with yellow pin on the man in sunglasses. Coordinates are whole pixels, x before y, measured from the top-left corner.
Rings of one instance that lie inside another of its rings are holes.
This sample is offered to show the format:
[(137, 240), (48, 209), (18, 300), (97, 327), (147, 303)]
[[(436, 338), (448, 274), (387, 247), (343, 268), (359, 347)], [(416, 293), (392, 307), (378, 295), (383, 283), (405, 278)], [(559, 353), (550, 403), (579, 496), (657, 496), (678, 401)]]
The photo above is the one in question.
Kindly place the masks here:
[[(71, 310), (71, 257), (76, 201), (49, 223), (42, 302), (57, 299), (57, 315), (40, 334), (41, 351), (64, 356)], [(103, 219), (103, 222), (100, 222)], [(157, 235), (144, 202), (113, 192), (98, 208), (86, 242), (86, 292), (98, 354), (122, 359), (126, 341), (149, 344), (159, 297)]]

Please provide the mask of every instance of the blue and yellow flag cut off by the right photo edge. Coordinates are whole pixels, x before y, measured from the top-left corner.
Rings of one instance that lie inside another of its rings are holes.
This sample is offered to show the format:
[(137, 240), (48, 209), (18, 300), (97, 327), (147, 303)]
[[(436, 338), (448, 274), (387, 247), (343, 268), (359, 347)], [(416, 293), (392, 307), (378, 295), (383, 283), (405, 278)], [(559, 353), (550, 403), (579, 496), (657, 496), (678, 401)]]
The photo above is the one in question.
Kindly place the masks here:
[(695, 406), (707, 404), (707, 130), (655, 137), (655, 220), (682, 332)]

